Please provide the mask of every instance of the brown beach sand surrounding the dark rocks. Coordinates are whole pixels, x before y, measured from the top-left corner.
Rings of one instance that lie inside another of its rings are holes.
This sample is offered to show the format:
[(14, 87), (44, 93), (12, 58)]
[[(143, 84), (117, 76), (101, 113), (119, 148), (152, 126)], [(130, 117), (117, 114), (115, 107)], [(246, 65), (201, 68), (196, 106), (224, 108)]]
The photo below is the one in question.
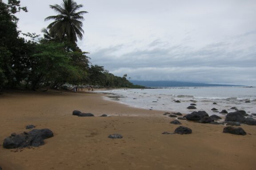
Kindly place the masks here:
[[(45, 145), (0, 147), (3, 170), (256, 170), (256, 127), (248, 135), (222, 133), (224, 125), (180, 120), (189, 135), (173, 132), (163, 111), (128, 107), (103, 94), (15, 92), (0, 96), (0, 142), (26, 125), (49, 128)], [(96, 117), (72, 116), (73, 110)], [(102, 114), (109, 117), (99, 117)], [(109, 139), (118, 133), (123, 139)]]

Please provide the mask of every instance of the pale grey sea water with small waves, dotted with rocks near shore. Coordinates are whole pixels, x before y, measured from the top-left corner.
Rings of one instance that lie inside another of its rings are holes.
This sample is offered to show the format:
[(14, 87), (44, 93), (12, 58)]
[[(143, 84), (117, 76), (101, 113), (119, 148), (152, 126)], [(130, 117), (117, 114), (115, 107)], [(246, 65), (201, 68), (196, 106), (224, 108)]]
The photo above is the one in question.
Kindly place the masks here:
[[(204, 110), (209, 115), (221, 115), (223, 109), (233, 112), (231, 107), (256, 113), (256, 88), (249, 87), (176, 87), (161, 89), (114, 89), (107, 93), (108, 100), (128, 104), (137, 108), (163, 110), (164, 112), (191, 113)], [(176, 103), (180, 100), (180, 103)], [(248, 102), (249, 101), (249, 102)], [(213, 103), (217, 104), (213, 104)], [(187, 109), (190, 104), (196, 109)], [(212, 111), (212, 108), (218, 111)]]

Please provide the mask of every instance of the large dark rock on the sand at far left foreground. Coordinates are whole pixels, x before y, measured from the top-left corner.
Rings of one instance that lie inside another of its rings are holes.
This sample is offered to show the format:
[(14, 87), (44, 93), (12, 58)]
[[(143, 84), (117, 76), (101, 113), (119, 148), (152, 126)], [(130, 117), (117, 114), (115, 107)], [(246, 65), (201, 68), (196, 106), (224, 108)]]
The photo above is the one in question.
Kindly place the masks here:
[(50, 129), (33, 129), (28, 133), (24, 132), (20, 135), (13, 133), (11, 136), (4, 139), (3, 147), (7, 149), (18, 147), (39, 147), (44, 145), (44, 139), (52, 136), (53, 133)]

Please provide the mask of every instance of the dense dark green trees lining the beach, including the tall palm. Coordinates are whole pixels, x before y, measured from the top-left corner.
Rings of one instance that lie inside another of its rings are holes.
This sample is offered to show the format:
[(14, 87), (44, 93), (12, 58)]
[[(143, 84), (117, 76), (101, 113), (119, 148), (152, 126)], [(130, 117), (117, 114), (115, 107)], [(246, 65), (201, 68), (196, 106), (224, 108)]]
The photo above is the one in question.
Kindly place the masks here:
[(54, 19), (43, 28), (44, 37), (17, 30), (15, 13), (24, 11), (19, 0), (0, 0), (0, 90), (59, 88), (64, 84), (100, 85), (104, 87), (141, 88), (127, 80), (127, 75), (117, 77), (103, 66), (92, 65), (76, 44), (82, 39), (82, 20), (85, 11), (77, 12), (82, 5), (73, 0), (63, 0), (61, 5), (50, 5), (58, 13), (45, 20)]

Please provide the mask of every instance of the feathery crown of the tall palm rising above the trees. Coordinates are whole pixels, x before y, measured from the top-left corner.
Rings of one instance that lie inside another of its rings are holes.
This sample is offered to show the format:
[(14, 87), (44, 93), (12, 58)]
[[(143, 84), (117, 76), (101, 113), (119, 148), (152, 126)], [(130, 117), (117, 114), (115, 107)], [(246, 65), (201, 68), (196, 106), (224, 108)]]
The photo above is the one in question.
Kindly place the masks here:
[(84, 17), (82, 16), (86, 11), (76, 12), (82, 4), (78, 5), (73, 0), (63, 0), (61, 5), (50, 5), (58, 15), (48, 16), (44, 21), (54, 19), (55, 21), (48, 25), (49, 33), (55, 32), (61, 42), (66, 38), (69, 42), (77, 42), (83, 38), (84, 30), (82, 29)]

